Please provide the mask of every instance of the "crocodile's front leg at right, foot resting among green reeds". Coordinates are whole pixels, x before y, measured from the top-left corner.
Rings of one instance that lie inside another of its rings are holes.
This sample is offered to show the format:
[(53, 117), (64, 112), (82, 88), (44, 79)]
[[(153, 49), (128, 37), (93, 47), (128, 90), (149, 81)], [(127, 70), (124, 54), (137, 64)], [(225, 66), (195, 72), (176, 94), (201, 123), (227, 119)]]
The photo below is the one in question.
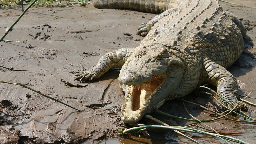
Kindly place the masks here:
[[(204, 72), (203, 77), (206, 82), (217, 86), (217, 93), (232, 105), (236, 106), (239, 101), (238, 86), (235, 77), (228, 72), (224, 67), (212, 62), (209, 59), (204, 59)], [(230, 104), (227, 104), (223, 99), (219, 99), (222, 104), (228, 108), (233, 108)], [(239, 105), (242, 110), (246, 111), (248, 107), (246, 105)]]

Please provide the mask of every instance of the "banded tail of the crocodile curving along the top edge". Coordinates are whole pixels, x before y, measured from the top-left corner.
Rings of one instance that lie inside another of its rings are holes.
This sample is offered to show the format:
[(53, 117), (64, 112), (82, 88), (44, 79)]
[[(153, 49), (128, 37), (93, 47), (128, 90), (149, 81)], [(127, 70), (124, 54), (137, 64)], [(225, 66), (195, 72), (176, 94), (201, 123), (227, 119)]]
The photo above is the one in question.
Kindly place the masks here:
[(93, 0), (96, 8), (132, 9), (148, 13), (162, 13), (174, 8), (179, 0)]

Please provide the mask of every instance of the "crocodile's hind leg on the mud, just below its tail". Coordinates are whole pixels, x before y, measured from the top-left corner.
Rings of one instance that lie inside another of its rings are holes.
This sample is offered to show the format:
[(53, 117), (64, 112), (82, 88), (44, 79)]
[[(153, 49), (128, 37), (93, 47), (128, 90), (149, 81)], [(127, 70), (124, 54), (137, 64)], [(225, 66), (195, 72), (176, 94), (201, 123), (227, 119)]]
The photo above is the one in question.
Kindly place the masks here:
[(150, 31), (150, 29), (152, 28), (152, 26), (154, 26), (155, 23), (157, 23), (160, 19), (162, 19), (165, 16), (168, 16), (170, 14), (172, 14), (173, 12), (177, 11), (177, 8), (171, 8), (168, 9), (166, 11), (164, 11), (163, 13), (156, 15), (152, 20), (150, 20), (148, 23), (142, 23), (138, 28), (137, 28), (137, 34), (141, 35), (142, 37), (145, 37), (148, 32)]

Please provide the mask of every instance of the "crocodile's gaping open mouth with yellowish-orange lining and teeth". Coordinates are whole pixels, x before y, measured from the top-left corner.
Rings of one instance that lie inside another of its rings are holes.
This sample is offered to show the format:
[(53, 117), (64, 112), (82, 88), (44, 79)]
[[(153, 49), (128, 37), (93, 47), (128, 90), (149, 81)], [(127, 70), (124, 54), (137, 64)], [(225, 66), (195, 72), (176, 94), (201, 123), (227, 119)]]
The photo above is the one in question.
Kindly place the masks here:
[(122, 106), (121, 112), (122, 117), (138, 119), (141, 113), (151, 103), (155, 93), (161, 89), (165, 78), (166, 74), (163, 73), (158, 76), (152, 76), (150, 82), (143, 82), (141, 85), (126, 86), (125, 103)]

